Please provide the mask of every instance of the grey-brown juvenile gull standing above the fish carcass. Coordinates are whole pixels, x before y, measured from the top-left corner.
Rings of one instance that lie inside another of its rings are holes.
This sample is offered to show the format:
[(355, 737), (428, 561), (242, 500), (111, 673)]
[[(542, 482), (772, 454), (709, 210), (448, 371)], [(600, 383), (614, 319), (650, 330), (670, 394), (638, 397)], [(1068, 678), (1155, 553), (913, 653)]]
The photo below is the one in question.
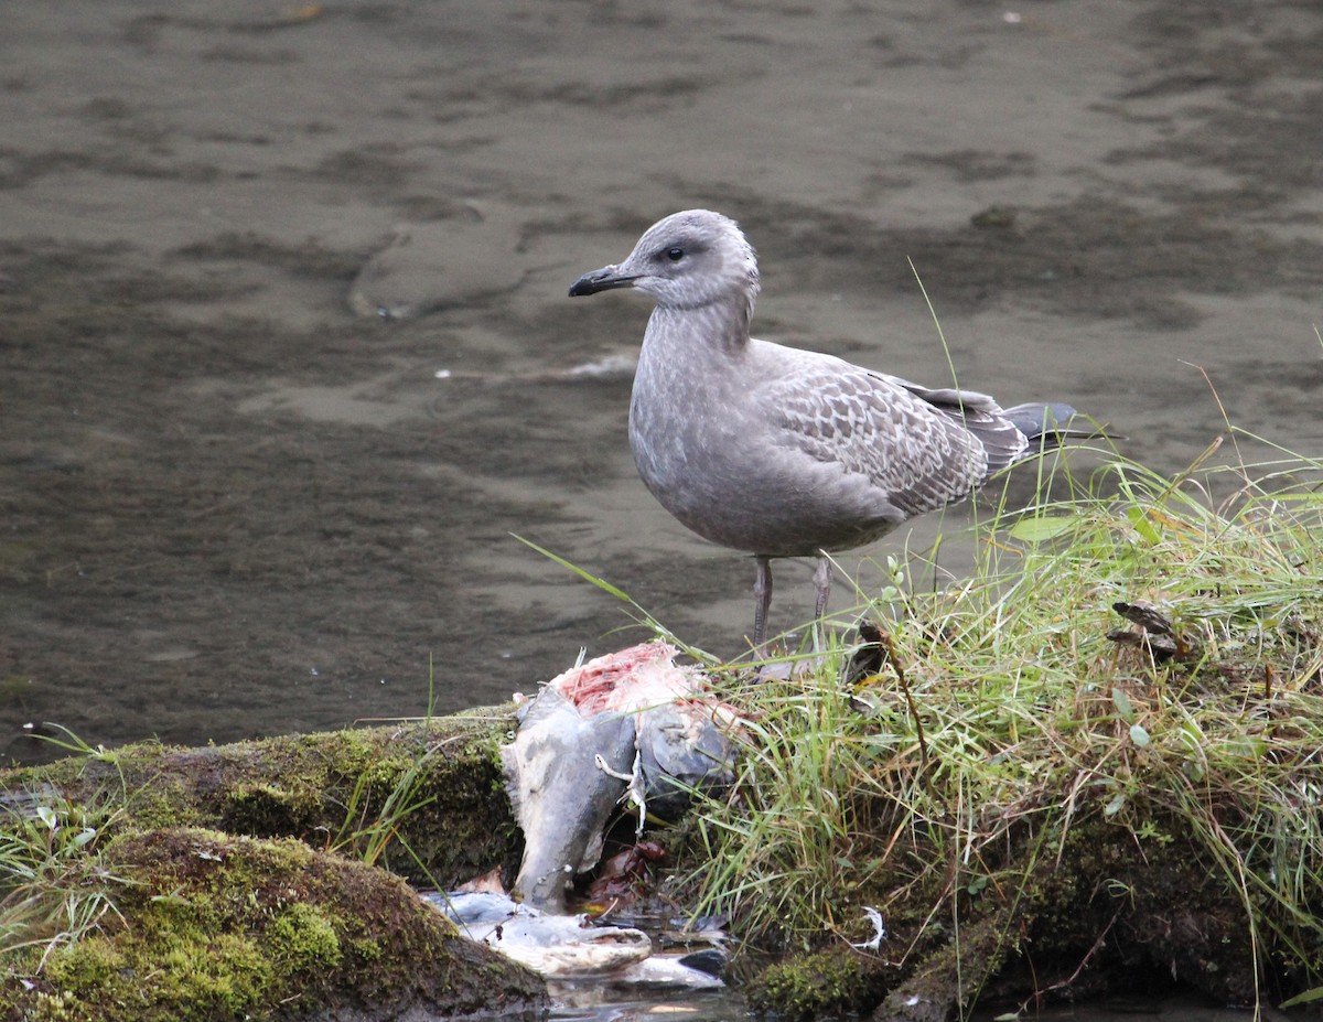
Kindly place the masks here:
[(630, 400), (634, 461), (681, 523), (754, 555), (759, 650), (773, 557), (818, 557), (822, 618), (828, 553), (964, 499), (1053, 445), (1054, 424), (1074, 414), (1062, 404), (1002, 409), (974, 391), (750, 338), (757, 257), (736, 221), (706, 209), (658, 221), (624, 262), (583, 274), (570, 297), (617, 287), (656, 302)]

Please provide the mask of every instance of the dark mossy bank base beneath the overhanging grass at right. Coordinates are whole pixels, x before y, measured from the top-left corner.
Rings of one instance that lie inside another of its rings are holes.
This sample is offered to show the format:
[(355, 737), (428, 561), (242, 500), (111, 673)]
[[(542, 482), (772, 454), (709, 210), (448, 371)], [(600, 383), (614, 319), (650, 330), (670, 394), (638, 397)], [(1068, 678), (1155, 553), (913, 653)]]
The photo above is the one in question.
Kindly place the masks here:
[[(1150, 822), (1179, 834), (1176, 818)], [(1019, 846), (1008, 866), (1016, 855), (1029, 858)], [(791, 956), (750, 981), (749, 1003), (787, 1019), (864, 1013), (875, 1022), (947, 1022), (974, 1001), (1015, 1007), (1033, 992), (1078, 999), (1159, 980), (1230, 1005), (1258, 993), (1244, 906), (1189, 843), (1136, 845), (1130, 829), (1090, 818), (1068, 835), (1060, 862), (1044, 858), (1027, 876), (1007, 876), (1016, 882), (1000, 886), (1003, 898), (992, 884), (978, 896), (953, 895), (958, 932), (913, 932), (905, 920), (931, 894), (912, 894), (892, 907), (900, 921), (877, 954), (833, 947)], [(1263, 989), (1278, 999), (1294, 992)]]

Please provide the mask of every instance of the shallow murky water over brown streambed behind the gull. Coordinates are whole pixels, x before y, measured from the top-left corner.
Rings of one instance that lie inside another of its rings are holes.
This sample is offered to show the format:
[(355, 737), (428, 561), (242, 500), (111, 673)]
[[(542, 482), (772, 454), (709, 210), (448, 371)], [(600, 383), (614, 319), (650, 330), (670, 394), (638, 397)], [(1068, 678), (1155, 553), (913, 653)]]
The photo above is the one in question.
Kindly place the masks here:
[(5, 23), (0, 756), (36, 721), (201, 743), (492, 703), (638, 637), (511, 534), (738, 651), (751, 567), (630, 461), (646, 307), (565, 295), (687, 207), (757, 245), (762, 336), (943, 383), (917, 271), (963, 385), (1164, 470), (1218, 400), (1320, 453), (1315, 0)]

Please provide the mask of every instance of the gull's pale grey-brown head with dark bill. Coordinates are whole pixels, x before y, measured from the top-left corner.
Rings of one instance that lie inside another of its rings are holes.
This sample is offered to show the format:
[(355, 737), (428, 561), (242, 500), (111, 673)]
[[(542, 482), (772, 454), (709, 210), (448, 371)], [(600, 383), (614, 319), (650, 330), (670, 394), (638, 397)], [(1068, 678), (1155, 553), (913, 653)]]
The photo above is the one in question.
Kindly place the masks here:
[(668, 308), (738, 302), (753, 311), (758, 259), (730, 217), (687, 209), (644, 230), (624, 262), (579, 277), (570, 298), (615, 287), (643, 291)]

